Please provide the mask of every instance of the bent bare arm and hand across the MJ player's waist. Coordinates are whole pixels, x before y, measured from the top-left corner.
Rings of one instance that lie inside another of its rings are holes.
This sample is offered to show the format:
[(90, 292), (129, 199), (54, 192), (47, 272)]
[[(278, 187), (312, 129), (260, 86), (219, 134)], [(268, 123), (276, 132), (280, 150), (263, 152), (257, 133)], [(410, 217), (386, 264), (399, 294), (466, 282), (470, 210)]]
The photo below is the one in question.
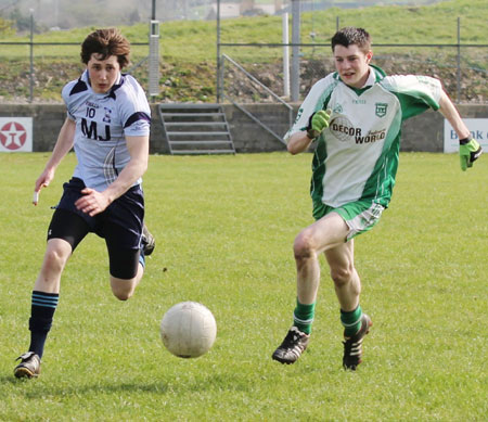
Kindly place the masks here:
[(145, 172), (147, 169), (149, 136), (127, 137), (126, 140), (130, 154), (130, 161), (127, 166), (120, 171), (117, 179), (103, 192), (95, 191), (91, 188), (84, 189), (81, 192), (85, 196), (75, 203), (78, 209), (81, 209), (90, 216), (102, 213), (112, 202), (126, 193)]

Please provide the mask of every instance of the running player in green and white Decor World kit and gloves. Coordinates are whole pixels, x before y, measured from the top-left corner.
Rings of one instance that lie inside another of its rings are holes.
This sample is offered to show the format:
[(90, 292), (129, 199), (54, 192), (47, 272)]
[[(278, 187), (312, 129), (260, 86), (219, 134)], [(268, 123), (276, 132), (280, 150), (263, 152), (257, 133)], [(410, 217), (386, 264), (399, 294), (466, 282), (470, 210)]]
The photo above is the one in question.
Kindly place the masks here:
[(481, 149), (437, 79), (386, 76), (371, 65), (371, 38), (364, 29), (341, 29), (332, 38), (332, 51), (336, 72), (313, 85), (285, 136), (292, 154), (317, 141), (310, 188), (316, 222), (295, 239), (294, 322), (272, 358), (294, 363), (308, 346), (323, 253), (341, 306), (343, 366), (356, 370), (372, 322), (359, 305), (354, 238), (370, 230), (388, 206), (401, 123), (427, 108), (438, 110), (459, 136), (462, 170), (473, 165)]

